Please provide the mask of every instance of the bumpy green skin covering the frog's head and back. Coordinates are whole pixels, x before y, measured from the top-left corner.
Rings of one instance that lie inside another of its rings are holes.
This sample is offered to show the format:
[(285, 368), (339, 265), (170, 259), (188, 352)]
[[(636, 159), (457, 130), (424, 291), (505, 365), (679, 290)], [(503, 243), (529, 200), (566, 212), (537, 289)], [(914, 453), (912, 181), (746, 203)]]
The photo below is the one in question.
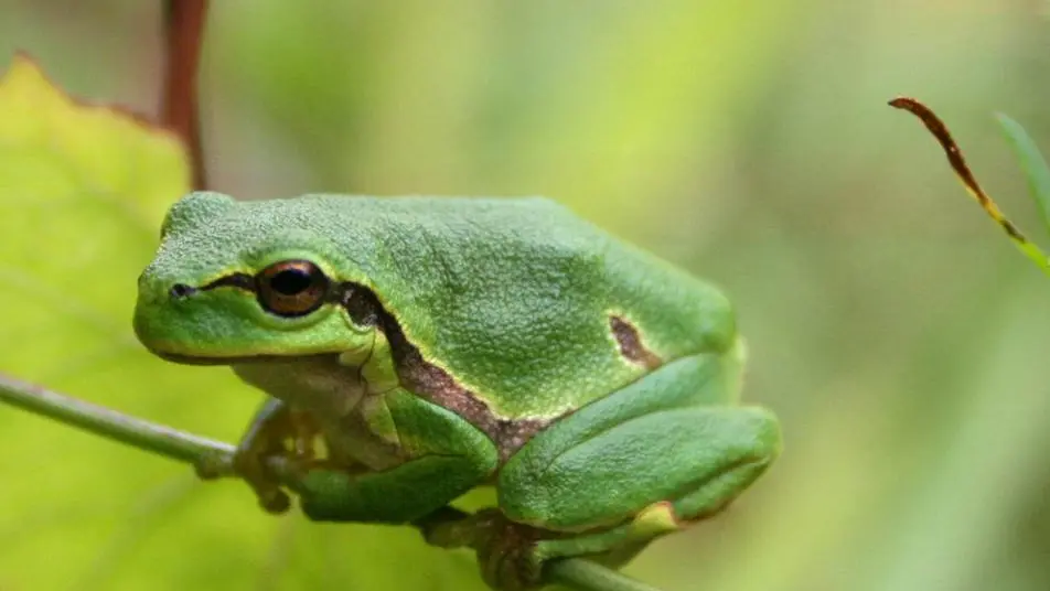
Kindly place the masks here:
[(203, 284), (296, 250), (372, 288), (425, 357), (510, 418), (559, 416), (644, 373), (610, 346), (610, 312), (664, 359), (728, 351), (736, 339), (729, 301), (714, 288), (545, 198), (191, 197), (165, 225), (140, 282), (160, 305), (138, 318), (170, 352), (340, 350), (326, 323), (296, 333), (266, 318), (260, 326), (250, 311), (163, 303), (175, 282)]

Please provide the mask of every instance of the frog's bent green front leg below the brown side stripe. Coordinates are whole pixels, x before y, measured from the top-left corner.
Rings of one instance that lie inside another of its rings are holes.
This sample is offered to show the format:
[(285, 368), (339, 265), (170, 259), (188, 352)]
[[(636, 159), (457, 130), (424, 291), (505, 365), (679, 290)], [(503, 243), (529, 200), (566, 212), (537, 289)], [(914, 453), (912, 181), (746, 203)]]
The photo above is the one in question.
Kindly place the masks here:
[(379, 472), (320, 468), (293, 491), (317, 522), (404, 524), (429, 515), (495, 471), (499, 452), (478, 428), (454, 412), (401, 388), (383, 395), (388, 436), (407, 458)]

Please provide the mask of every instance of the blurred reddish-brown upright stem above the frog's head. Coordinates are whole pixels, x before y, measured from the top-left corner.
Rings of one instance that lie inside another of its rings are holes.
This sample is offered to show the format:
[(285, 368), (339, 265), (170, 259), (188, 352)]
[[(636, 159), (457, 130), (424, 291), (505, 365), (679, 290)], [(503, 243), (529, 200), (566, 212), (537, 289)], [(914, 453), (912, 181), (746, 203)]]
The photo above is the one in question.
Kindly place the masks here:
[(197, 115), (197, 64), (207, 0), (165, 0), (164, 42), (167, 67), (161, 103), (161, 123), (182, 138), (193, 166), (193, 187), (205, 189), (201, 123)]

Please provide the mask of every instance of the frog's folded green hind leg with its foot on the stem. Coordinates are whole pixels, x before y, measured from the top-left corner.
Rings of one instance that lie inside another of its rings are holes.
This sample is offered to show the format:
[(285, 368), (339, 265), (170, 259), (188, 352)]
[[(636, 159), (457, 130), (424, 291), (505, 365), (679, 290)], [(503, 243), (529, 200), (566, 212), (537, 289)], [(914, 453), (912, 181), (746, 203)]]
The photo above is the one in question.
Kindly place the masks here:
[(554, 558), (619, 566), (725, 508), (780, 451), (770, 412), (724, 406), (735, 370), (678, 359), (533, 438), (500, 472), (503, 520), (490, 516), (495, 548), (479, 547), (490, 584), (537, 584)]

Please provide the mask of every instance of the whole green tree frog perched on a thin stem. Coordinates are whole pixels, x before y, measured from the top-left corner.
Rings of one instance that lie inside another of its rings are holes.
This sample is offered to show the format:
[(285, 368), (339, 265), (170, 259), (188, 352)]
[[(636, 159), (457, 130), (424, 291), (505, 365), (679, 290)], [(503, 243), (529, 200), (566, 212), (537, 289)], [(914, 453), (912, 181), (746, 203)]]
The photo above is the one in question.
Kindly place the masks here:
[[(540, 197), (192, 193), (135, 330), (266, 393), (236, 460), (265, 507), (288, 508), (265, 469), (280, 454), (308, 518), (424, 524), (499, 589), (564, 557), (622, 565), (725, 508), (781, 445), (739, 404), (727, 298)], [(496, 507), (436, 517), (479, 486)]]

